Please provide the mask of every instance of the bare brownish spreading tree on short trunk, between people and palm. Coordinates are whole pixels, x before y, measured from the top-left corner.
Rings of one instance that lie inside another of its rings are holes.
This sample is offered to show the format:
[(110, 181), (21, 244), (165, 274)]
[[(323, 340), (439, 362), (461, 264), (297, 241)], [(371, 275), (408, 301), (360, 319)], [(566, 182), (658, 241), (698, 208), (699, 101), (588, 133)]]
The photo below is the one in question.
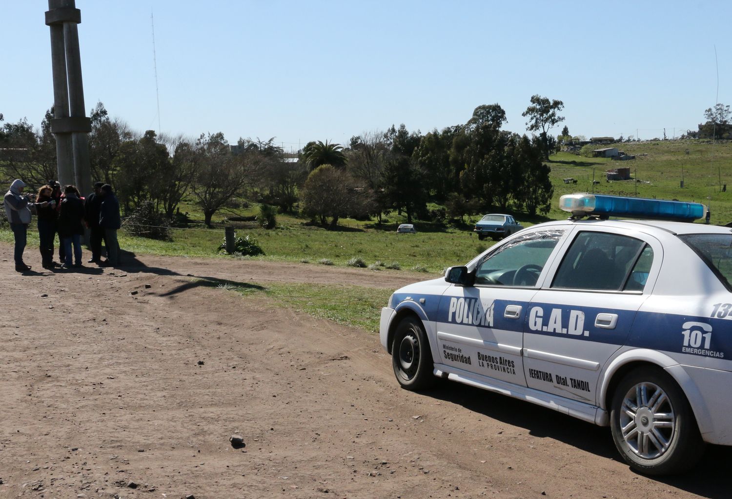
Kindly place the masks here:
[(203, 221), (211, 227), (214, 214), (242, 191), (250, 176), (258, 172), (259, 163), (248, 154), (231, 154), (221, 132), (201, 134), (195, 151), (199, 163), (191, 191), (203, 210)]

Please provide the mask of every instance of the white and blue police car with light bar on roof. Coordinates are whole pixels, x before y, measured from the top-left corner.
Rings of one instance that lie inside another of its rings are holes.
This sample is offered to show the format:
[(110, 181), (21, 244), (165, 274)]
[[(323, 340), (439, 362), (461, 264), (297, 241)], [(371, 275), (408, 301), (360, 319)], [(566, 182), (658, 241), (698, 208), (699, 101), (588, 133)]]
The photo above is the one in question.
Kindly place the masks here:
[(698, 203), (560, 204), (569, 220), (392, 294), (380, 336), (400, 385), (447, 378), (610, 426), (648, 474), (732, 445), (732, 230), (690, 223)]

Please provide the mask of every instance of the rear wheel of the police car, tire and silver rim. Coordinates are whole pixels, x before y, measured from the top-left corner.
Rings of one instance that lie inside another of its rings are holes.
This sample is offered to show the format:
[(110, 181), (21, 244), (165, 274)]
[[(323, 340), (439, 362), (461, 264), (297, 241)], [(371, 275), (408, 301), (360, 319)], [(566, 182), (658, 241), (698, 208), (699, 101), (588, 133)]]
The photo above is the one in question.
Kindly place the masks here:
[(657, 367), (634, 369), (621, 380), (610, 406), (610, 429), (625, 462), (646, 475), (689, 470), (704, 451), (684, 392)]

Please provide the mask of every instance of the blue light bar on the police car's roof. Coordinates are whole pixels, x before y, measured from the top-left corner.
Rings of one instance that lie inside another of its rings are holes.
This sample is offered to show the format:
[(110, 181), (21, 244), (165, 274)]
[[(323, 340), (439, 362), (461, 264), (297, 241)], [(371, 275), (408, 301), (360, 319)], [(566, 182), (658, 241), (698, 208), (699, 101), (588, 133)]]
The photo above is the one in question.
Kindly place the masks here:
[(596, 194), (567, 194), (559, 198), (559, 208), (575, 216), (651, 218), (691, 222), (702, 218), (706, 206), (685, 201), (623, 198)]

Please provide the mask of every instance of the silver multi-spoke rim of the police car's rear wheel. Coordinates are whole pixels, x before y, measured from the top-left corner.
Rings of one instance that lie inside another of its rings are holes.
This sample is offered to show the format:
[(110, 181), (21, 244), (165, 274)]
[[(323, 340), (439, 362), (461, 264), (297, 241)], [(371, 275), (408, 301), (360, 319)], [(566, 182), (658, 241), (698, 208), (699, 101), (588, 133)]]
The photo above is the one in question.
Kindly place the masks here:
[(620, 411), (620, 428), (630, 449), (643, 459), (668, 451), (676, 418), (671, 399), (654, 383), (638, 383), (628, 390)]

